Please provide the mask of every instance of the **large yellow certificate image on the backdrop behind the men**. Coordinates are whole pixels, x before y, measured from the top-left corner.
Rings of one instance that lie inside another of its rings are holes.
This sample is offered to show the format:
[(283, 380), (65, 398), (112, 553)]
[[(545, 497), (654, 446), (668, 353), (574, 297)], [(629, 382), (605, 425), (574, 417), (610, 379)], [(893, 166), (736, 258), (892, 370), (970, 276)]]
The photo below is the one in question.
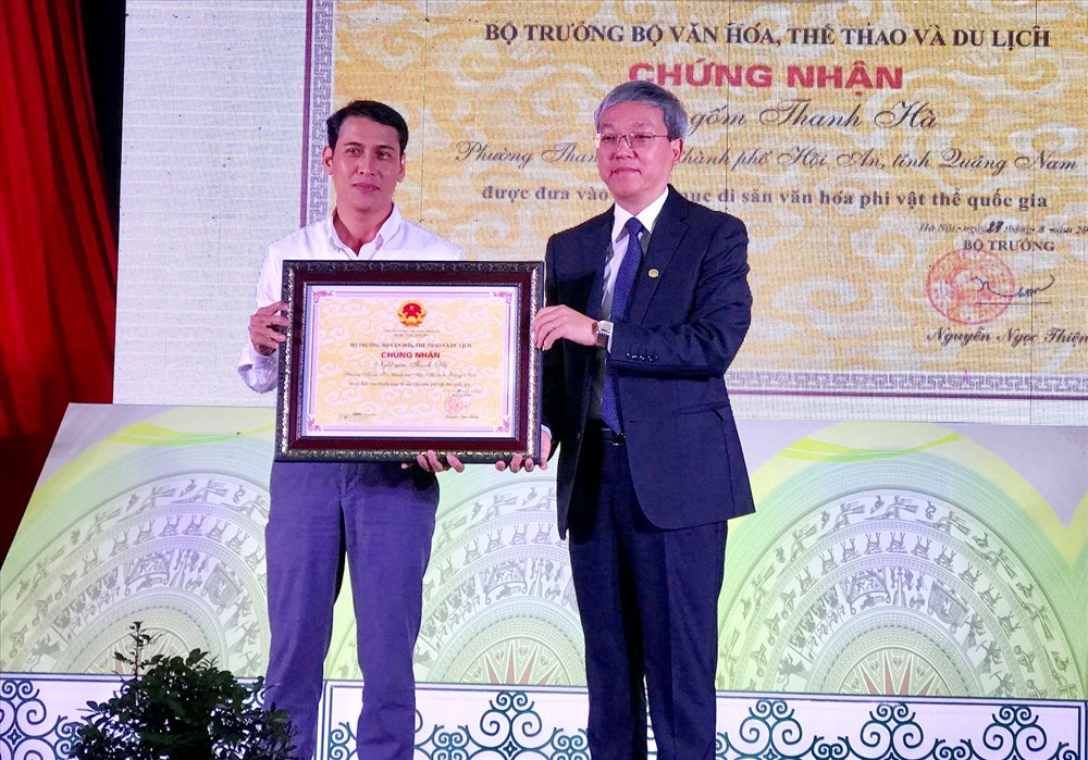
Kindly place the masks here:
[(381, 98), (413, 129), (409, 215), (473, 258), (540, 258), (608, 205), (593, 109), (657, 82), (692, 116), (676, 186), (752, 237), (734, 391), (906, 418), (1083, 400), (1086, 24), (1060, 0), (312, 0), (304, 215), (330, 204), (324, 115)]

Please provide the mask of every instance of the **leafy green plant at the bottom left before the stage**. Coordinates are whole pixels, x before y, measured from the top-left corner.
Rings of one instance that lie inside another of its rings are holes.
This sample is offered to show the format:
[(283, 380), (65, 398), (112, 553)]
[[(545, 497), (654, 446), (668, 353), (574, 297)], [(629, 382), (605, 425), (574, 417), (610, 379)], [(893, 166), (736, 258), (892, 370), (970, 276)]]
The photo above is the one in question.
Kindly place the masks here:
[[(147, 658), (153, 636), (129, 626), (132, 650), (114, 652), (129, 670), (116, 695), (87, 702), (71, 757), (79, 760), (286, 760), (290, 724), (264, 709), (264, 680), (247, 686), (220, 670), (208, 652)], [(274, 707), (274, 706), (273, 706)]]

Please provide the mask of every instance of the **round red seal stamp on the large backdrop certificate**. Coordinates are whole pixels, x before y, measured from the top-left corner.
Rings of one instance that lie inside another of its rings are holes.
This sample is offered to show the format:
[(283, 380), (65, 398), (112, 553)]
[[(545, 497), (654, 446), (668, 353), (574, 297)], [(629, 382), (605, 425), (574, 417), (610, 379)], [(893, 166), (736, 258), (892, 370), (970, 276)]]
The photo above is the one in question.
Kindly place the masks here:
[(1012, 270), (986, 251), (957, 250), (941, 257), (926, 275), (934, 309), (953, 322), (980, 325), (1001, 316), (1016, 292)]

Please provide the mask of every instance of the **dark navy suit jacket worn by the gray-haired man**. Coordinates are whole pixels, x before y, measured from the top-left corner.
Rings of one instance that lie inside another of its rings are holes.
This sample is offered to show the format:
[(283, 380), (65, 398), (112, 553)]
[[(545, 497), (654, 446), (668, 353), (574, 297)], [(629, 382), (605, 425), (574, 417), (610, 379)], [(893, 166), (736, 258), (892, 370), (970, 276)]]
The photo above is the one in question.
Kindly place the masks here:
[[(549, 306), (599, 317), (613, 220), (609, 209), (548, 240)], [(670, 186), (607, 359), (619, 373), (635, 493), (658, 527), (720, 522), (754, 509), (722, 378), (751, 322), (747, 271), (744, 224)], [(559, 446), (560, 535), (599, 477), (581, 457), (598, 350), (560, 340), (544, 353), (544, 420), (553, 449)]]

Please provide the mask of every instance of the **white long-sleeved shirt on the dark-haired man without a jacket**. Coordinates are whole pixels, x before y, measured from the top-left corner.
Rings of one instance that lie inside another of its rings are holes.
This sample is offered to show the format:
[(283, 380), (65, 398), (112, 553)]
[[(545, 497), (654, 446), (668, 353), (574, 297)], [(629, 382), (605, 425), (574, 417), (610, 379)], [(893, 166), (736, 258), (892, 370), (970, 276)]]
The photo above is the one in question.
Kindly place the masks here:
[[(335, 211), (333, 212), (335, 213)], [(400, 215), (394, 204), (374, 239), (356, 253), (339, 239), (333, 216), (302, 227), (269, 246), (257, 281), (257, 307), (281, 300), (284, 261), (463, 261), (465, 253)], [(246, 341), (238, 360), (238, 374), (258, 393), (271, 390), (280, 370), (279, 351), (264, 356)]]

